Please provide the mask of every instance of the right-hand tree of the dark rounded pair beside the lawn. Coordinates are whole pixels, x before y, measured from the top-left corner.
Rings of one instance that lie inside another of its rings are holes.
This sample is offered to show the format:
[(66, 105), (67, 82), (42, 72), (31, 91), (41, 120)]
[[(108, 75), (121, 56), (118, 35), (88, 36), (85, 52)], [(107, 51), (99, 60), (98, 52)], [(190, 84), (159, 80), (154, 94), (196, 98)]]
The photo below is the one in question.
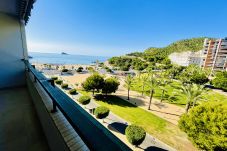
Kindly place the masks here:
[(116, 78), (107, 78), (104, 81), (104, 86), (102, 88), (102, 92), (107, 95), (107, 93), (116, 92), (120, 83)]

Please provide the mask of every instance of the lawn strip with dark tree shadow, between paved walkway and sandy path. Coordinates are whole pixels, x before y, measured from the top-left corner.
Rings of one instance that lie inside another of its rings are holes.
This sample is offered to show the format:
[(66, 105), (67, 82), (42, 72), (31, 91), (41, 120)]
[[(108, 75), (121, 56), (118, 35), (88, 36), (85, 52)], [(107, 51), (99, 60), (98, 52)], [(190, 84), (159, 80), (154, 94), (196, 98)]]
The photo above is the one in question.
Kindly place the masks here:
[[(79, 91), (84, 95), (90, 95), (85, 91)], [(106, 106), (111, 112), (120, 116), (130, 123), (142, 126), (146, 132), (176, 148), (177, 150), (195, 150), (184, 132), (168, 121), (136, 107), (127, 101), (116, 97), (108, 96), (106, 99), (96, 100), (99, 105)]]

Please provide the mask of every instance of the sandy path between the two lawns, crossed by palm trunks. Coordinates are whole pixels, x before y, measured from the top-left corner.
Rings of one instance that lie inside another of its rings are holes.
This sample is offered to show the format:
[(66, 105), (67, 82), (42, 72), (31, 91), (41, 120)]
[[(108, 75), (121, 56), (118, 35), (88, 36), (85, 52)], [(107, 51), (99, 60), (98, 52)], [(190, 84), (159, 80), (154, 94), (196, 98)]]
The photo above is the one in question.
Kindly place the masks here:
[(175, 125), (178, 124), (180, 116), (185, 112), (184, 108), (173, 104), (160, 102), (160, 100), (153, 97), (151, 110), (148, 110), (149, 97), (141, 96), (141, 93), (138, 93), (136, 91), (130, 91), (130, 100), (127, 100), (128, 91), (124, 87), (124, 79), (120, 78), (119, 80), (120, 86), (115, 93), (116, 96), (124, 99), (125, 101), (128, 101), (131, 104), (143, 108), (144, 110), (149, 111)]

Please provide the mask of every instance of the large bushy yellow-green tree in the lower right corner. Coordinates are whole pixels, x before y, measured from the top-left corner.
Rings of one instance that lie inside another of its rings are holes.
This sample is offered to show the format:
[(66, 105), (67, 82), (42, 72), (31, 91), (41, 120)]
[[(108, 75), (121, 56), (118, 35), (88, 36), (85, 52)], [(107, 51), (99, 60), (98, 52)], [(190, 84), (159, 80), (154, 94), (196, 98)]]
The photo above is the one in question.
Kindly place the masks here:
[(179, 127), (201, 150), (227, 150), (227, 105), (206, 102), (183, 114)]

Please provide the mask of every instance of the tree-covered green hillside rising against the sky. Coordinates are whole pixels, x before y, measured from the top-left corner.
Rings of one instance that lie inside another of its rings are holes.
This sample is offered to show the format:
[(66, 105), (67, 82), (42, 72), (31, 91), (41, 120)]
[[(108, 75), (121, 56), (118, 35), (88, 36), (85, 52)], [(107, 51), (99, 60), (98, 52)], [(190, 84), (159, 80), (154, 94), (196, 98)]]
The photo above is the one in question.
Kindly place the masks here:
[[(143, 70), (149, 63), (168, 64), (168, 56), (174, 52), (196, 52), (203, 49), (204, 39), (207, 37), (184, 39), (173, 42), (166, 47), (150, 47), (144, 52), (132, 52), (126, 56), (112, 57), (108, 61), (111, 65), (119, 67), (122, 70), (128, 70), (129, 67)], [(213, 38), (209, 38), (213, 39)]]

